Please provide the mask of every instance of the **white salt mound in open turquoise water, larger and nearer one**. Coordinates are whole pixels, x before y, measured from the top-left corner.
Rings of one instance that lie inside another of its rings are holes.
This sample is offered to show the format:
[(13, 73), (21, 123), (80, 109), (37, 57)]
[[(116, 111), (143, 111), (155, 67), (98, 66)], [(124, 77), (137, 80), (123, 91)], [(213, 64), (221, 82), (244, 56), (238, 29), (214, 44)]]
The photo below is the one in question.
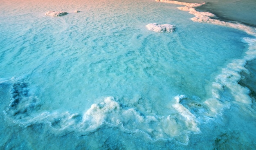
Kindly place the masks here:
[(173, 32), (175, 31), (176, 27), (171, 24), (157, 24), (157, 23), (150, 23), (146, 25), (149, 31), (154, 32)]

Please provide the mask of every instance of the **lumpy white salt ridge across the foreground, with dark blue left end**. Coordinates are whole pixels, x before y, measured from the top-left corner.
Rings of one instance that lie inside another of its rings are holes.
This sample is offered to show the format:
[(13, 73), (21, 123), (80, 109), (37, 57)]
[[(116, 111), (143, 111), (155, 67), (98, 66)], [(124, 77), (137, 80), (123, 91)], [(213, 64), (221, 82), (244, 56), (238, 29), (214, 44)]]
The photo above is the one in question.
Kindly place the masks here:
[(135, 108), (120, 104), (113, 97), (106, 97), (103, 102), (92, 104), (83, 115), (40, 110), (41, 103), (29, 93), (27, 83), (13, 82), (12, 99), (4, 114), (20, 126), (47, 124), (54, 131), (53, 134), (65, 134), (70, 131), (81, 136), (110, 126), (123, 132), (144, 133), (152, 141), (175, 139), (182, 144), (188, 144), (190, 132), (199, 131), (197, 122), (193, 120), (195, 117), (179, 105), (174, 107), (184, 113), (169, 116), (143, 115)]

